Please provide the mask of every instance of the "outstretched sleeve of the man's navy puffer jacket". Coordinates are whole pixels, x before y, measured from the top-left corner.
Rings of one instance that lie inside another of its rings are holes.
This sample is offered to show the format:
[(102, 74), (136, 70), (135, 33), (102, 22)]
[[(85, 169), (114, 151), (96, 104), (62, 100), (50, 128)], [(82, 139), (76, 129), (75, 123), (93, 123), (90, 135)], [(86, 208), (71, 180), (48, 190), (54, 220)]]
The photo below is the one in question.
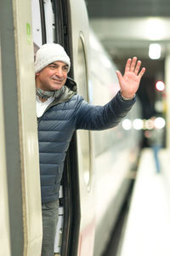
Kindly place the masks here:
[(94, 106), (82, 99), (77, 110), (77, 129), (99, 131), (114, 127), (122, 121), (134, 102), (136, 97), (123, 100), (120, 91), (105, 106)]

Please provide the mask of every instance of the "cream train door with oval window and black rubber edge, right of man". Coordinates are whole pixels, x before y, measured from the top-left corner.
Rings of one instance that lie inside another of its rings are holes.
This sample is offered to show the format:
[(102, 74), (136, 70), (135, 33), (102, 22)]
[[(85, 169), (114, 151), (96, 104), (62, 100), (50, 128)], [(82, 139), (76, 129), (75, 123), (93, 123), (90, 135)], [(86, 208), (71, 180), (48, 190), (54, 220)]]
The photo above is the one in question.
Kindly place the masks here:
[[(63, 45), (71, 57), (69, 75), (77, 82), (78, 93), (88, 101), (89, 27), (85, 2), (67, 0), (61, 1), (60, 6), (60, 17), (63, 17)], [(61, 255), (93, 255), (95, 211), (92, 151), (91, 132), (77, 131), (71, 140), (65, 161), (65, 221)]]

